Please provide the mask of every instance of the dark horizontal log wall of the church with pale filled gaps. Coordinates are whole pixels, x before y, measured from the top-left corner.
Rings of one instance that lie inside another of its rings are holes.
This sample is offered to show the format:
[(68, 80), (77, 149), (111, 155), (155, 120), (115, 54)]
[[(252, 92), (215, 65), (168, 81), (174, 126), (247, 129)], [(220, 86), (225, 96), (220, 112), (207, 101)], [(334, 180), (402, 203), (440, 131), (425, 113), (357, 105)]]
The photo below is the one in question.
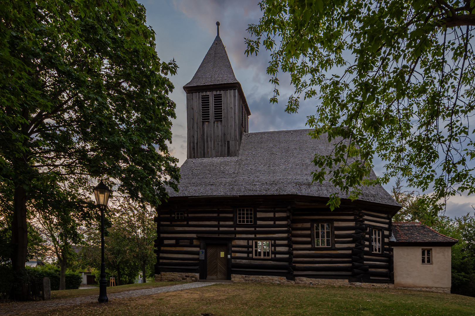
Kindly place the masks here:
[[(183, 219), (175, 218), (182, 212)], [(155, 247), (156, 273), (200, 273), (205, 261), (199, 250), (219, 240), (229, 244), (228, 276), (273, 275), (288, 280), (348, 279), (388, 283), (392, 280), (392, 254), (388, 245), (390, 217), (379, 212), (340, 208), (256, 207), (254, 225), (236, 224), (237, 208), (173, 208), (164, 206), (158, 223)], [(332, 247), (315, 247), (312, 225), (332, 224)], [(382, 253), (371, 251), (371, 229), (383, 232)], [(270, 240), (271, 257), (253, 258), (253, 240)]]

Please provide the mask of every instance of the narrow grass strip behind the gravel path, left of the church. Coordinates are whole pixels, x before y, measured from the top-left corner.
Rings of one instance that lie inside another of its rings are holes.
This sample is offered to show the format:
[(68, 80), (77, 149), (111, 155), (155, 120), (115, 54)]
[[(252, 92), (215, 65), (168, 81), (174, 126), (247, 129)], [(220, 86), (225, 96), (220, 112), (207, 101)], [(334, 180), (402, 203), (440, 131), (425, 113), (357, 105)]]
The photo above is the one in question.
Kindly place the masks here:
[[(148, 283), (137, 283), (137, 284), (127, 284), (127, 285), (119, 285), (113, 287), (107, 287), (107, 293), (117, 293), (117, 292), (125, 292), (125, 291), (132, 291), (134, 289), (151, 289), (151, 288), (159, 288), (162, 286), (168, 285), (176, 285), (188, 282), (148, 282)], [(51, 298), (78, 298), (81, 296), (88, 296), (88, 295), (99, 295), (99, 287), (95, 289), (65, 289), (61, 291), (51, 291)]]

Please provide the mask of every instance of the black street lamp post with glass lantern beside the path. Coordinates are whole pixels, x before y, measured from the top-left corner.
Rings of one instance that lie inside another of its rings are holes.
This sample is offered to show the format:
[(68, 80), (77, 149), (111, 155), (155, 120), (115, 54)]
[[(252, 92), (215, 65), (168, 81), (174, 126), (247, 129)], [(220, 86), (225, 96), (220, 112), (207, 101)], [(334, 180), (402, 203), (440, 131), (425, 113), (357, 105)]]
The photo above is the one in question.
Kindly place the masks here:
[(101, 280), (99, 280), (99, 298), (97, 299), (99, 303), (107, 303), (109, 298), (107, 298), (107, 280), (105, 280), (105, 261), (104, 261), (104, 209), (109, 202), (109, 195), (111, 190), (101, 182), (94, 188), (94, 196), (101, 210)]

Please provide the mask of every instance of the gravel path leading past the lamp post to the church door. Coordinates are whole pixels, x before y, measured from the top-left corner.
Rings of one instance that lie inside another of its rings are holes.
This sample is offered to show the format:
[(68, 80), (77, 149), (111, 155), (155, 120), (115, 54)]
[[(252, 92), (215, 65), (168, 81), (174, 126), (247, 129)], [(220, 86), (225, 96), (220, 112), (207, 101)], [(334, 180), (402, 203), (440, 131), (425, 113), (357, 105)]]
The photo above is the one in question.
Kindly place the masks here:
[[(171, 292), (171, 291), (179, 291), (182, 289), (194, 289), (200, 288), (203, 286), (208, 286), (211, 284), (216, 283), (186, 283), (186, 284), (179, 284), (179, 285), (172, 285), (172, 286), (164, 286), (161, 288), (153, 288), (153, 289), (137, 289), (133, 291), (126, 291), (126, 292), (119, 292), (119, 293), (112, 293), (107, 294), (109, 301), (113, 300), (114, 298), (134, 298), (137, 296), (143, 295), (152, 295), (158, 294), (163, 292)], [(82, 296), (80, 298), (63, 298), (63, 299), (52, 299), (49, 301), (37, 301), (37, 302), (18, 302), (13, 304), (7, 305), (0, 305), (0, 315), (11, 315), (11, 314), (19, 314), (19, 313), (34, 313), (35, 311), (53, 309), (53, 308), (61, 308), (61, 307), (68, 307), (73, 305), (81, 305), (86, 303), (97, 303), (97, 296), (98, 295), (89, 295), (89, 296)]]

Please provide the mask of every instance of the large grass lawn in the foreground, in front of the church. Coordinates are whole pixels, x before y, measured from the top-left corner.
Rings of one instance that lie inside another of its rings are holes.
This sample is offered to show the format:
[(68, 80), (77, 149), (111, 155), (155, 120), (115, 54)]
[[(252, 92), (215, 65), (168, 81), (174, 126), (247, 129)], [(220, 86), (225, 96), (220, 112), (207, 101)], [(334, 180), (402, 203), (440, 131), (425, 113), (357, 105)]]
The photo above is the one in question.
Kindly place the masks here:
[(35, 316), (199, 316), (201, 313), (216, 316), (464, 316), (475, 315), (475, 298), (413, 290), (234, 283), (115, 299), (108, 304), (38, 311)]

